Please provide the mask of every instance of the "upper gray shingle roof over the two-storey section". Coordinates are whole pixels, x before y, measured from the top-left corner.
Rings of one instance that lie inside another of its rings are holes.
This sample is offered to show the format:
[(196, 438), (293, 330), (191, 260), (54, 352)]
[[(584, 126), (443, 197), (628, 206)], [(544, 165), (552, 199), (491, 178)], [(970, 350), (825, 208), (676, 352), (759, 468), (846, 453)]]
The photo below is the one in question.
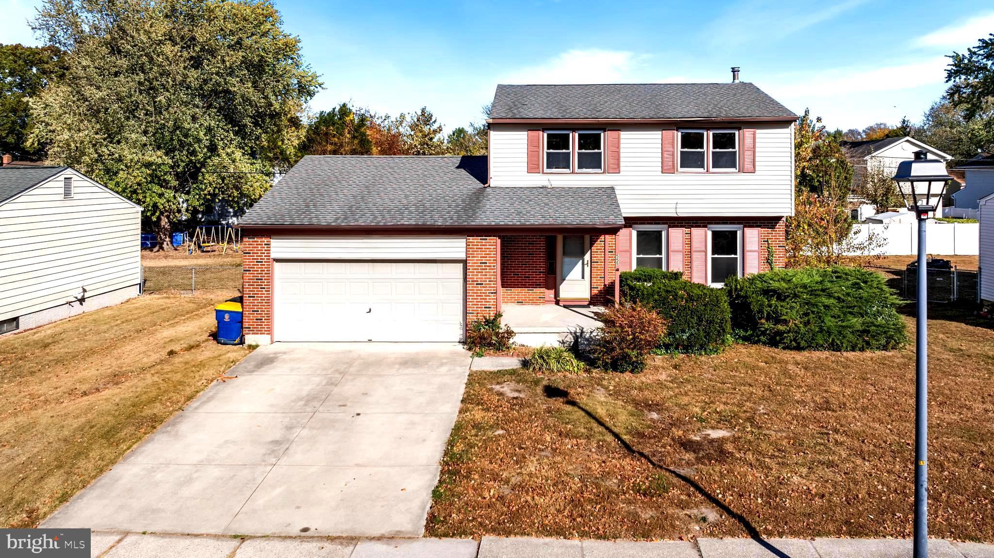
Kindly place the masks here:
[(497, 85), (490, 118), (797, 118), (752, 83)]

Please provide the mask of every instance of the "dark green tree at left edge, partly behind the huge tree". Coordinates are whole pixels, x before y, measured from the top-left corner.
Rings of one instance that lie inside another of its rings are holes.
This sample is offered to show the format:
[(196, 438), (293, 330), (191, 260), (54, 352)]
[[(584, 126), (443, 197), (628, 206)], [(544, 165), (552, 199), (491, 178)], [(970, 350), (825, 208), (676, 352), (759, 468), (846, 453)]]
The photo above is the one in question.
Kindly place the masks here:
[(29, 101), (65, 70), (58, 47), (0, 45), (0, 152), (17, 159), (45, 158), (45, 145), (25, 145), (32, 123)]

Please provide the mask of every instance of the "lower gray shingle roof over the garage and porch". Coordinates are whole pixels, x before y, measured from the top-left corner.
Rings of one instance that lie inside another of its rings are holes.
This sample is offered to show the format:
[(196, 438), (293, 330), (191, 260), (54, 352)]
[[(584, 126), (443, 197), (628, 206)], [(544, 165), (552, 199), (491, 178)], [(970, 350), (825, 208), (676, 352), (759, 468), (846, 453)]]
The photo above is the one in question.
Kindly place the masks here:
[(502, 226), (624, 223), (610, 187), (486, 187), (486, 156), (307, 156), (245, 225)]

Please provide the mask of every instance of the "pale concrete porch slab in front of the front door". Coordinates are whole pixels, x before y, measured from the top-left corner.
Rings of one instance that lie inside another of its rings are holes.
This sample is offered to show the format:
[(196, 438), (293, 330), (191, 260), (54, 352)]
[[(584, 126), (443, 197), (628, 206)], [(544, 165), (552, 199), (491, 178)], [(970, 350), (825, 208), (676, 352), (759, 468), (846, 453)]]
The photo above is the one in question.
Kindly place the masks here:
[(514, 330), (514, 343), (527, 347), (572, 344), (600, 327), (594, 313), (599, 306), (559, 306), (555, 304), (505, 304), (503, 323)]

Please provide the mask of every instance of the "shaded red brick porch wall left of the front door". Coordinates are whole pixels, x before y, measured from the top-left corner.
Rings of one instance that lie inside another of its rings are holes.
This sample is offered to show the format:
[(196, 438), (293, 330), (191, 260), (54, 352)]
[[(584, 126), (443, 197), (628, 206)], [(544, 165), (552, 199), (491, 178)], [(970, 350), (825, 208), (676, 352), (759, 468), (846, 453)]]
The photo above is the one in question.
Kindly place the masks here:
[(546, 303), (545, 235), (501, 236), (501, 304)]

